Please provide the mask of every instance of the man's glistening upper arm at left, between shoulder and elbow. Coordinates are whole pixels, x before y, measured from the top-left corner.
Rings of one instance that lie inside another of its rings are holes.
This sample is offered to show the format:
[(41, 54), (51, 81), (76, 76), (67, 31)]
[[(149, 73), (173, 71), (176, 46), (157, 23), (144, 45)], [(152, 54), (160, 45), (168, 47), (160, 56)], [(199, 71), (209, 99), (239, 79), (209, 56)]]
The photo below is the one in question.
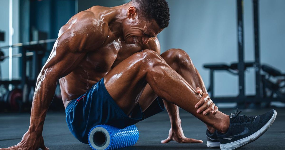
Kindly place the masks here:
[(57, 79), (68, 75), (85, 57), (87, 51), (82, 45), (86, 39), (70, 36), (65, 31), (54, 43), (41, 75), (52, 75)]

